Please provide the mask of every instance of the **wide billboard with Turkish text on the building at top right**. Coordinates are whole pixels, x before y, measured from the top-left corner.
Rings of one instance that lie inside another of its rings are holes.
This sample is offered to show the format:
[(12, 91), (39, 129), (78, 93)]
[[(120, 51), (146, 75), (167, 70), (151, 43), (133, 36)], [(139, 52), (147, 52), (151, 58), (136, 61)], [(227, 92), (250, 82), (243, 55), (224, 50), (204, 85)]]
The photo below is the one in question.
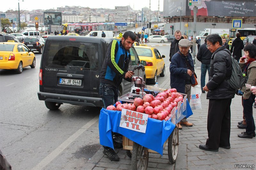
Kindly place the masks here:
[[(164, 0), (164, 17), (180, 16), (178, 7), (182, 6), (182, 16), (192, 16), (193, 7), (188, 7), (188, 0)], [(255, 17), (255, 0), (204, 0), (198, 6), (197, 15)]]

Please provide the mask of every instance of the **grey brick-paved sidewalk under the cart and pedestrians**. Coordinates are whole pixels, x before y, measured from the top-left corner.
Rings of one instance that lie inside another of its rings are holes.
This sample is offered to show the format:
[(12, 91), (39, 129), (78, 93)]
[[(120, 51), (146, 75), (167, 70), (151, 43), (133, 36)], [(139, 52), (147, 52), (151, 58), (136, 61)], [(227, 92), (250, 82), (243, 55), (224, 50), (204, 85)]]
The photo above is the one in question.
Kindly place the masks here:
[[(196, 69), (197, 81), (200, 85), (201, 70)], [(206, 78), (206, 80), (208, 77)], [(161, 83), (160, 88), (170, 88), (170, 78)], [(205, 144), (208, 138), (207, 133), (207, 113), (208, 102), (206, 93), (202, 93), (202, 109), (193, 110), (193, 115), (188, 121), (194, 126), (182, 126), (179, 130), (179, 151), (176, 163), (170, 164), (167, 153), (167, 146), (164, 148), (164, 154), (161, 156), (156, 153), (149, 153), (148, 170), (157, 169), (187, 169), (187, 170), (208, 170), (208, 169), (236, 169), (235, 165), (254, 165), (256, 167), (256, 138), (244, 139), (237, 137), (237, 134), (245, 129), (238, 129), (237, 122), (242, 120), (241, 96), (235, 96), (231, 103), (231, 132), (230, 144), (231, 149), (219, 148), (219, 152), (204, 151), (198, 148), (199, 144)], [(255, 111), (255, 109), (253, 108)], [(255, 119), (254, 119), (255, 121)], [(103, 153), (101, 148), (89, 160), (83, 169), (93, 170), (113, 170), (113, 169), (131, 169), (131, 158), (126, 155), (126, 151), (117, 149), (116, 152), (120, 157), (120, 161), (110, 161)], [(246, 168), (239, 168), (246, 169)]]

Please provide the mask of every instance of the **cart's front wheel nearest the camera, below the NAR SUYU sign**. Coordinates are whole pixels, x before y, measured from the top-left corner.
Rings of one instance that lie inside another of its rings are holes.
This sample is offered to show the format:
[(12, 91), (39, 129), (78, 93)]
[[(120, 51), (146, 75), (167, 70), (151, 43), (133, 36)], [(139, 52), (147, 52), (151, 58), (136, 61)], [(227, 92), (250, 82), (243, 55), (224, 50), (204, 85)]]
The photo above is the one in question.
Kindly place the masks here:
[(148, 148), (133, 142), (132, 169), (146, 170), (148, 168)]

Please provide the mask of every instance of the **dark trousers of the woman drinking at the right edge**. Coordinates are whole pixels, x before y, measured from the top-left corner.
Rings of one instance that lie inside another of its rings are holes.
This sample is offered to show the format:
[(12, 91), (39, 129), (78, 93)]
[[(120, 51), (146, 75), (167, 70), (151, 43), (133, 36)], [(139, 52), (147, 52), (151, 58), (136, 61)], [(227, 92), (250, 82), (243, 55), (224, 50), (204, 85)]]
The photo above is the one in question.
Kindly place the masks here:
[(246, 121), (246, 133), (251, 135), (255, 132), (255, 124), (252, 116), (252, 105), (255, 99), (255, 95), (251, 94), (249, 99), (244, 100), (244, 117)]

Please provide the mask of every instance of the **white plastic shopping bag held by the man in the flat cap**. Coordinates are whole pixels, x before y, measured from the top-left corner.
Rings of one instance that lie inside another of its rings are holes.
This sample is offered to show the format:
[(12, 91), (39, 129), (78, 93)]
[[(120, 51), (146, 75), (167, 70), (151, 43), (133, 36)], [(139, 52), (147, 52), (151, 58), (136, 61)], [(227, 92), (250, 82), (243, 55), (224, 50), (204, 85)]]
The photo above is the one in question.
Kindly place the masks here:
[(191, 87), (191, 96), (190, 96), (190, 102), (189, 102), (191, 109), (202, 109), (202, 104), (200, 99), (201, 94), (202, 94), (202, 90), (200, 85)]

